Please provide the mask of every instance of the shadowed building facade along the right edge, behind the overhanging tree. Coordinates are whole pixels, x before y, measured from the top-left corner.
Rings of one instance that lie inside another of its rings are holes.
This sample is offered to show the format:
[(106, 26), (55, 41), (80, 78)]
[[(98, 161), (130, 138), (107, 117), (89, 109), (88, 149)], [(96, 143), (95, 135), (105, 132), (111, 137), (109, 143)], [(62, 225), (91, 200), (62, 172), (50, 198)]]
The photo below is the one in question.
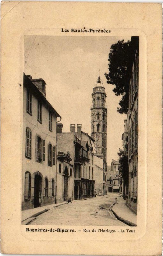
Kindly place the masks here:
[(131, 37), (131, 61), (129, 73), (129, 110), (128, 110), (128, 159), (129, 188), (128, 206), (137, 212), (138, 199), (138, 74), (139, 74), (139, 37)]

